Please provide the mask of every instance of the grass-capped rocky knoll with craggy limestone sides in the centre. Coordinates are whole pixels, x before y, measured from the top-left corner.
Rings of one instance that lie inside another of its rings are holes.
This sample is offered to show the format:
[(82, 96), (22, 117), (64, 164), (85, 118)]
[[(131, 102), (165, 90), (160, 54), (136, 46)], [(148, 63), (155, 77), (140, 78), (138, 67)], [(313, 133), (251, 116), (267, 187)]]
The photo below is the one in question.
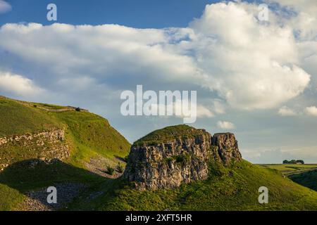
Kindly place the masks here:
[(124, 176), (139, 190), (174, 188), (208, 177), (210, 160), (228, 165), (241, 160), (235, 136), (211, 136), (187, 125), (166, 127), (136, 141)]

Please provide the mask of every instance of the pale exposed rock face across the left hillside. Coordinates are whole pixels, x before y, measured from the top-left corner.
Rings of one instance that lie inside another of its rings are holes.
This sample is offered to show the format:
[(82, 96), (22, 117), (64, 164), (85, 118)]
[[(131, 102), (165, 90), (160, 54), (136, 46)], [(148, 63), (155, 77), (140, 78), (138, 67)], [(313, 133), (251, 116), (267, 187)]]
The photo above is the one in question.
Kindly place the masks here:
[[(24, 134), (19, 136), (0, 137), (0, 169), (14, 162), (28, 159), (40, 159), (50, 161), (68, 158), (69, 149), (64, 141), (63, 129), (42, 131), (37, 134)], [(10, 150), (11, 158), (5, 151)]]

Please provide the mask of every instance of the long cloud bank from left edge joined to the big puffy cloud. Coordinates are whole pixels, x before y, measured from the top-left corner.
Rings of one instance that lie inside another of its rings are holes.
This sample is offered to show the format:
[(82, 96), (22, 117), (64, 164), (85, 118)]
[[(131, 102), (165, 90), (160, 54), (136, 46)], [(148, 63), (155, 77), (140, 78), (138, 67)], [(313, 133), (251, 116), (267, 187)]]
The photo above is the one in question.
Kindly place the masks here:
[(256, 12), (253, 4), (211, 4), (189, 27), (161, 30), (7, 24), (0, 48), (49, 70), (53, 86), (66, 76), (117, 89), (126, 86), (118, 80), (156, 89), (181, 82), (216, 91), (232, 108), (274, 108), (302, 94), (311, 76), (299, 65), (292, 28), (262, 24)]

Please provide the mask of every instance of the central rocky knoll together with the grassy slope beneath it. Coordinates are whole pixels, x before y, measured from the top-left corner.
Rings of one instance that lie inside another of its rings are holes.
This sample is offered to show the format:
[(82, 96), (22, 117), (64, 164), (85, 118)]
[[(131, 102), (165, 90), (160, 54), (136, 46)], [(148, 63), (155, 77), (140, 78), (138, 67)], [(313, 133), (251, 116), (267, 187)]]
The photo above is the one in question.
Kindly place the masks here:
[[(77, 203), (74, 207), (89, 210), (317, 210), (316, 191), (294, 183), (273, 169), (240, 160), (237, 151), (232, 151), (237, 143), (230, 134), (214, 135), (216, 139), (227, 137), (218, 141), (209, 135), (202, 129), (185, 125), (152, 132), (132, 145), (126, 171), (131, 174), (126, 176), (130, 181), (118, 179), (104, 195), (88, 205)], [(209, 136), (211, 140), (200, 139), (200, 136), (207, 139)], [(194, 143), (191, 140), (195, 140)], [(200, 176), (196, 181), (184, 180), (180, 186), (176, 183), (178, 187), (175, 188), (173, 174), (178, 174), (180, 179), (190, 178), (196, 169), (204, 169), (195, 167), (192, 162), (200, 153), (206, 153), (206, 146), (211, 147), (212, 156), (207, 160), (208, 176)], [(177, 162), (173, 158), (188, 153), (188, 150), (194, 154), (186, 162)], [(168, 160), (169, 154), (171, 160)], [(235, 160), (228, 164), (221, 155)], [(168, 165), (161, 165), (161, 159), (166, 159)], [(135, 183), (139, 185), (135, 186)], [(262, 205), (258, 201), (261, 186), (268, 188), (268, 204)]]

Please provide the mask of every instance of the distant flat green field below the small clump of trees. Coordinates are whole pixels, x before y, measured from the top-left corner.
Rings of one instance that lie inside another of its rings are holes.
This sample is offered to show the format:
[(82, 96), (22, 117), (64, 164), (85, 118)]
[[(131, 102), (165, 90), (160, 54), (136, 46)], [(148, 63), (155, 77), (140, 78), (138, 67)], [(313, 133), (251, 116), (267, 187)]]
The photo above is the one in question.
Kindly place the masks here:
[(277, 169), (285, 176), (301, 174), (303, 172), (309, 172), (317, 169), (317, 164), (261, 164), (259, 166), (269, 169)]

